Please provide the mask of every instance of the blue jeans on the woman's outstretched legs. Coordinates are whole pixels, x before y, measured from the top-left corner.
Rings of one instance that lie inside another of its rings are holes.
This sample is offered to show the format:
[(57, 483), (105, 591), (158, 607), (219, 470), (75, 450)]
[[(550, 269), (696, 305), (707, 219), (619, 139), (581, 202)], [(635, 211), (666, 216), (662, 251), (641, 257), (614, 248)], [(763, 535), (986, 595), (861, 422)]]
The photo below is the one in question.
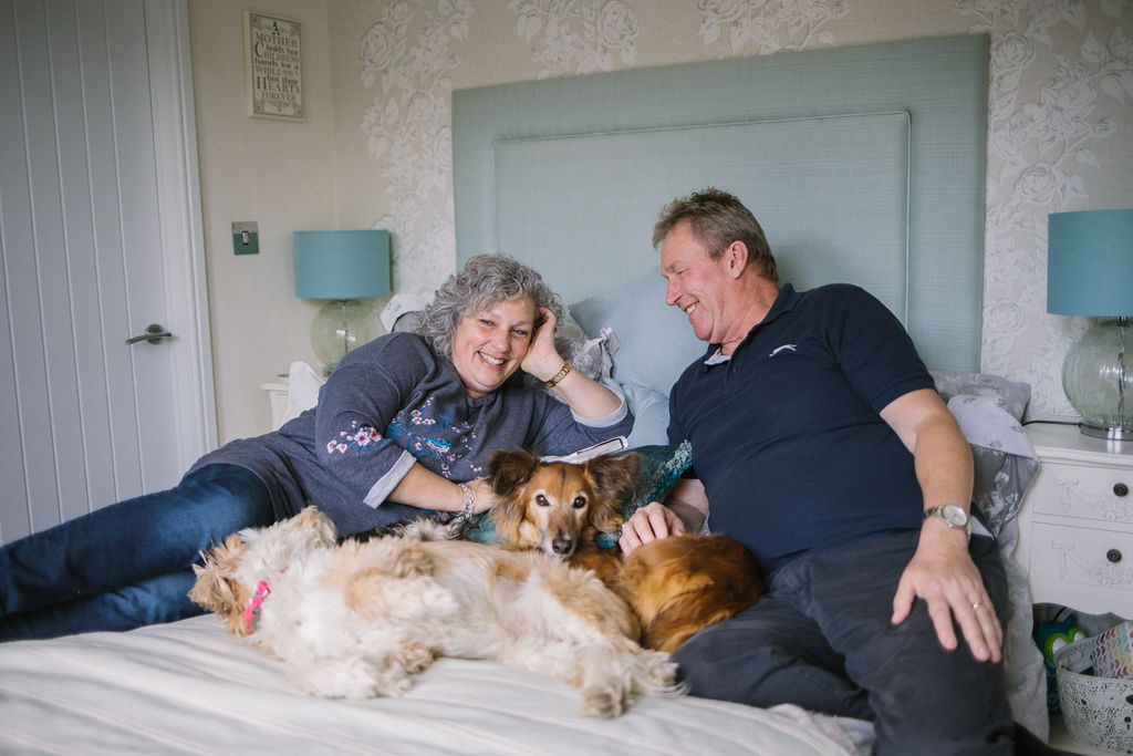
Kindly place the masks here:
[(208, 465), (177, 486), (103, 507), (0, 547), (0, 640), (129, 630), (203, 613), (201, 552), (274, 520), (266, 486)]

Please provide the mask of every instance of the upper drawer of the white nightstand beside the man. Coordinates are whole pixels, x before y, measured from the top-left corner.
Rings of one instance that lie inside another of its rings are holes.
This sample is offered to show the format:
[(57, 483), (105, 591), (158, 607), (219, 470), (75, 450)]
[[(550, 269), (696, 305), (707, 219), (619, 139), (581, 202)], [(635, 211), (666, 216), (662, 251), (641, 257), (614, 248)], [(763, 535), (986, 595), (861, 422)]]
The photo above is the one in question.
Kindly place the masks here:
[(1043, 461), (1033, 487), (1036, 515), (1133, 525), (1133, 470)]

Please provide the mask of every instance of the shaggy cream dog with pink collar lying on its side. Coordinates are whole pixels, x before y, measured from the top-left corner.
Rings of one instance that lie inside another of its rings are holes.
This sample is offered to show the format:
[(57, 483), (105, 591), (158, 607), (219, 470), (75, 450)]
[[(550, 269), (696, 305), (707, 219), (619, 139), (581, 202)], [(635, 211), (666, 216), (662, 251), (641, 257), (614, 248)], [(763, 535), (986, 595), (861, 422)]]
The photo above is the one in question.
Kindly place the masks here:
[(335, 543), (309, 507), (205, 554), (189, 597), (283, 660), (317, 696), (406, 693), (436, 656), (489, 659), (581, 689), (579, 713), (617, 716), (634, 694), (674, 695), (675, 665), (641, 648), (627, 603), (540, 552), (465, 541)]

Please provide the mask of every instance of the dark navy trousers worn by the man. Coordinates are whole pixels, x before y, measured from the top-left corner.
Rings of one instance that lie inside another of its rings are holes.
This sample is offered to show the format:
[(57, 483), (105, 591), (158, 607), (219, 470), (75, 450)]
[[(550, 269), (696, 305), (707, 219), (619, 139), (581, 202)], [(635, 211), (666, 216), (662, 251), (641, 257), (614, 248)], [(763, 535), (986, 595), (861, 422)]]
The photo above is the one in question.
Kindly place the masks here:
[[(870, 720), (875, 754), (1011, 754), (1003, 664), (976, 661), (959, 628), (960, 646), (945, 651), (921, 600), (904, 622), (889, 621), (918, 538), (902, 533), (787, 563), (755, 606), (676, 651), (690, 693)], [(1005, 623), (998, 546), (977, 536), (969, 552)]]

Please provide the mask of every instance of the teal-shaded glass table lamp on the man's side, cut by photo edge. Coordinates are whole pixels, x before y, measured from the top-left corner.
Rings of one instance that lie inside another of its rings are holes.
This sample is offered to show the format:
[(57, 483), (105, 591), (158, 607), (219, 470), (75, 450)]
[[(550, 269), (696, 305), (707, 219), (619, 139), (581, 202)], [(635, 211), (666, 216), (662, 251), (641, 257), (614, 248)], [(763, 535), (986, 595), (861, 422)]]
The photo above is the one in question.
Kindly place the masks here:
[(1066, 352), (1063, 391), (1082, 433), (1133, 440), (1133, 210), (1050, 214), (1047, 312), (1107, 318)]

